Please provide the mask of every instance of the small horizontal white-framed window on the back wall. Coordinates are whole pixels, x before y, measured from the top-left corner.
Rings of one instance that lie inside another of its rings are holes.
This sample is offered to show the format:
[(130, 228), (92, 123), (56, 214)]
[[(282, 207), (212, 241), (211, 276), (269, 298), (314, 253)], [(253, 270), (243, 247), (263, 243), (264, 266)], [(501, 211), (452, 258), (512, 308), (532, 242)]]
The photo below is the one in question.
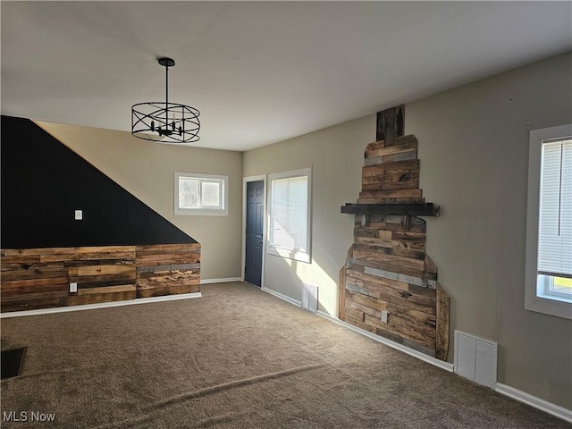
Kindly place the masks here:
[(175, 214), (228, 214), (228, 176), (175, 172)]

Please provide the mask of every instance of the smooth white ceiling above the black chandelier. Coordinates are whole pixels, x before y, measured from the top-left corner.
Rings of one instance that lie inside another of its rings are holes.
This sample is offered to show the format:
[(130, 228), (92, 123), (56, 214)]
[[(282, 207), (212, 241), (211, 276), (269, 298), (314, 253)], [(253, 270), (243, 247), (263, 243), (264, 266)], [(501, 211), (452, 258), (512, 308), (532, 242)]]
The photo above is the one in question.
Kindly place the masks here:
[[(191, 146), (247, 150), (572, 49), (566, 2), (1, 2), (2, 114), (130, 130), (201, 111)], [(373, 131), (374, 132), (374, 131)]]

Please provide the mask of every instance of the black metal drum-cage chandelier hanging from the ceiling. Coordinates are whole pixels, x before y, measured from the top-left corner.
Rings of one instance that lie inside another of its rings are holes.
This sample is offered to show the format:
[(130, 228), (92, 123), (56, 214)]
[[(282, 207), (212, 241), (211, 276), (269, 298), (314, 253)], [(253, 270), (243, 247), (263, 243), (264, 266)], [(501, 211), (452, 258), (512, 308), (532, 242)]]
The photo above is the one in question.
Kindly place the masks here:
[(149, 101), (131, 107), (131, 134), (139, 139), (163, 143), (191, 143), (198, 141), (200, 112), (189, 105), (169, 103), (169, 67), (172, 58), (158, 58), (165, 70), (164, 103)]

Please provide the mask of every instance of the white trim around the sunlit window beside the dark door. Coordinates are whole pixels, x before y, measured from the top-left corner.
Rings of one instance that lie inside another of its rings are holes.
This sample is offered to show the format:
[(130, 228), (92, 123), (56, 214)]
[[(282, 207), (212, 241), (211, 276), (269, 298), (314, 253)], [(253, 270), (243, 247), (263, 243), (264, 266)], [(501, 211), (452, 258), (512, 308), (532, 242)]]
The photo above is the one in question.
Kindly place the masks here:
[[(307, 251), (292, 251), (289, 248), (281, 248), (278, 246), (274, 246), (272, 243), (272, 185), (273, 181), (280, 180), (280, 179), (288, 179), (290, 177), (299, 177), (299, 176), (306, 176), (307, 177)], [(300, 262), (310, 263), (312, 261), (312, 168), (303, 168), (300, 170), (294, 170), (291, 172), (278, 172), (269, 174), (268, 177), (269, 183), (269, 191), (267, 192), (268, 195), (268, 210), (269, 210), (269, 219), (268, 222), (268, 255), (273, 255), (275, 257), (285, 257), (288, 259), (294, 259)]]

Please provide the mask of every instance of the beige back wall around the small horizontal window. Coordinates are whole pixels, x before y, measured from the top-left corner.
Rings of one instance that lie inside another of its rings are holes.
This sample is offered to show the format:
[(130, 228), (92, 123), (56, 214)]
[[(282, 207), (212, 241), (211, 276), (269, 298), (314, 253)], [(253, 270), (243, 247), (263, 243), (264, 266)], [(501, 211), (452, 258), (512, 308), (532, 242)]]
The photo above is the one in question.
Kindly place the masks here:
[[(197, 240), (202, 248), (201, 280), (240, 277), (240, 152), (164, 145), (123, 131), (38, 124)], [(228, 175), (228, 216), (175, 216), (173, 172)]]

